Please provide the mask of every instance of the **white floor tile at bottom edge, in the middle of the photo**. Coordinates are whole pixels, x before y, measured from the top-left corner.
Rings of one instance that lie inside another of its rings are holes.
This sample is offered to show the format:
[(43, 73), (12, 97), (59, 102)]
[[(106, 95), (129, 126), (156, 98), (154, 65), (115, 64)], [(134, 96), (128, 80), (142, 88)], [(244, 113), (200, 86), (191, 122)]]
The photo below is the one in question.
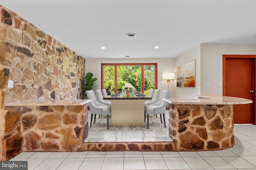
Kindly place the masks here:
[(124, 170), (146, 170), (144, 158), (124, 158)]

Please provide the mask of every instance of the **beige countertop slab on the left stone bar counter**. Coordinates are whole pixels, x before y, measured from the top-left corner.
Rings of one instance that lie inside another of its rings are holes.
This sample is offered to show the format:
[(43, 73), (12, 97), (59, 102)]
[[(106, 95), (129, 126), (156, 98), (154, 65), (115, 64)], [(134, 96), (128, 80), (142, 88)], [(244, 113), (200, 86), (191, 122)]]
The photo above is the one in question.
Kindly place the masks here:
[(5, 106), (81, 106), (92, 100), (28, 100), (8, 103)]

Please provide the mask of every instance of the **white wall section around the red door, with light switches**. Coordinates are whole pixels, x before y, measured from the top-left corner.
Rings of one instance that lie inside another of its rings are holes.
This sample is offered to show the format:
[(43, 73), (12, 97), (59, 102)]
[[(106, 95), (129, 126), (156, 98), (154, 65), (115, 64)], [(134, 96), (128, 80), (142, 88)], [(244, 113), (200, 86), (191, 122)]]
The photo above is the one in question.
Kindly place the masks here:
[(222, 55), (256, 55), (256, 44), (201, 44), (202, 95), (222, 96), (222, 86), (218, 86), (222, 84)]

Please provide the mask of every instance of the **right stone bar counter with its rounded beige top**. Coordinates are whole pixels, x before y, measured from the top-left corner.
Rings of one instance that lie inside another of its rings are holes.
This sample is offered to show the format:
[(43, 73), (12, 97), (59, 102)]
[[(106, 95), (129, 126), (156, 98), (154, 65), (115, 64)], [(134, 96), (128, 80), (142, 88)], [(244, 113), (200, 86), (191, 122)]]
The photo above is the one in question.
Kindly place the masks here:
[(228, 96), (164, 99), (169, 103), (169, 136), (173, 150), (221, 150), (234, 146), (233, 105), (251, 100)]

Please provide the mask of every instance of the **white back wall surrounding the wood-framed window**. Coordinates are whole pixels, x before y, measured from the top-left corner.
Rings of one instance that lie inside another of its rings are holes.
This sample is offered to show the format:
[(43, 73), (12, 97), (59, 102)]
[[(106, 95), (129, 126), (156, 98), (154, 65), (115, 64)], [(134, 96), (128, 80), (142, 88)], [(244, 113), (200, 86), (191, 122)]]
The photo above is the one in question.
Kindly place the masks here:
[[(168, 89), (166, 80), (162, 80), (163, 72), (174, 72), (176, 70), (176, 59), (85, 59), (85, 74), (92, 72), (93, 78), (98, 78), (94, 83), (96, 89), (101, 89), (101, 63), (157, 63), (158, 67), (158, 89)], [(170, 97), (175, 98), (174, 85), (176, 82), (170, 82)]]

